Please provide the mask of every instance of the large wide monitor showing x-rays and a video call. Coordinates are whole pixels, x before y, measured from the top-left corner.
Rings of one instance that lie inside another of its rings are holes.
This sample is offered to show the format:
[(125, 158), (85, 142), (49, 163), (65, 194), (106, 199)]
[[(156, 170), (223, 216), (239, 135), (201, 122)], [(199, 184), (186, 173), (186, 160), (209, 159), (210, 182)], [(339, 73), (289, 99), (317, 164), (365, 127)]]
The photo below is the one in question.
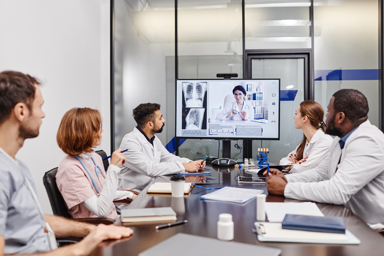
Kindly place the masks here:
[(176, 138), (280, 139), (280, 79), (177, 79)]

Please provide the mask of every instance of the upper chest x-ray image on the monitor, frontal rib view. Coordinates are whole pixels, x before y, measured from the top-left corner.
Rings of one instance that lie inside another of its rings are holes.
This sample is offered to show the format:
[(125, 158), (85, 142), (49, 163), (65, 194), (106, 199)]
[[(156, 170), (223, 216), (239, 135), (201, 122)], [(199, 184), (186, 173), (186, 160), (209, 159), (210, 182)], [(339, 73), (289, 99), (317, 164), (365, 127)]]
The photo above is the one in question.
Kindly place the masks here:
[(207, 82), (183, 82), (183, 107), (207, 107)]

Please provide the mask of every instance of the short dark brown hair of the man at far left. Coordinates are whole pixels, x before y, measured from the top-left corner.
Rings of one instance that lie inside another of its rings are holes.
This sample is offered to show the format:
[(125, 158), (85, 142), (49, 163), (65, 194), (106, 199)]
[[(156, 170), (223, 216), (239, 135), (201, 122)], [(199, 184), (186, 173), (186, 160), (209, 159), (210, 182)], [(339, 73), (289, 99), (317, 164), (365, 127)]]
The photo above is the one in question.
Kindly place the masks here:
[(23, 102), (31, 110), (35, 99), (36, 78), (16, 71), (0, 73), (0, 124), (10, 116), (17, 103)]

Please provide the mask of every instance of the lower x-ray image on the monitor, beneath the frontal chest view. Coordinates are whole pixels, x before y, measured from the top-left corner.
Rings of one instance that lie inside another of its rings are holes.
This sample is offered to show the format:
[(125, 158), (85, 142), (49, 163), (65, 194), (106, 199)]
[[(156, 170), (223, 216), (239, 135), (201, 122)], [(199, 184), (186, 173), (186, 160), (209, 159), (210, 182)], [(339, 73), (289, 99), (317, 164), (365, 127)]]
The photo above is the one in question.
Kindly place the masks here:
[(207, 111), (204, 108), (183, 107), (181, 128), (183, 130), (206, 130)]

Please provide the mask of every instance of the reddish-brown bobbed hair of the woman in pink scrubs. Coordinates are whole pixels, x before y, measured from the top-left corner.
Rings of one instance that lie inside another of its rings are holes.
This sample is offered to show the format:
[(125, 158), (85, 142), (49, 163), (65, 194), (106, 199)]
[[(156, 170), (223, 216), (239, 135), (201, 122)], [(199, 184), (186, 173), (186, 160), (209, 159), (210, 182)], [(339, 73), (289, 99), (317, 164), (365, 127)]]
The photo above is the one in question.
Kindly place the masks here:
[(96, 109), (75, 107), (61, 119), (56, 140), (60, 149), (68, 155), (92, 152), (92, 146), (99, 139), (101, 115)]

